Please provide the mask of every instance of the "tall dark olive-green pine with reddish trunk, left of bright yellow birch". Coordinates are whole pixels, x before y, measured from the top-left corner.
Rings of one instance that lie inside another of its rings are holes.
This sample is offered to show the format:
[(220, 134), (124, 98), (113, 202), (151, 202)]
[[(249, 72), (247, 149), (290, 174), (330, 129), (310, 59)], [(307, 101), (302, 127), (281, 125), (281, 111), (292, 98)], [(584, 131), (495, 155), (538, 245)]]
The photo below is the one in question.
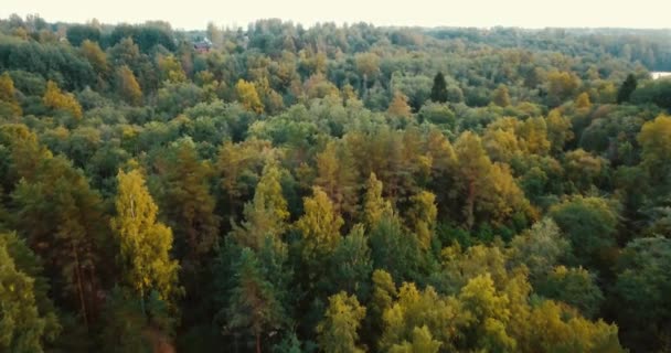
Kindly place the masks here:
[(99, 300), (96, 296), (107, 247), (102, 199), (62, 156), (39, 161), (24, 171), (12, 192), (18, 217), (14, 227), (47, 264), (58, 295), (78, 308), (88, 328)]

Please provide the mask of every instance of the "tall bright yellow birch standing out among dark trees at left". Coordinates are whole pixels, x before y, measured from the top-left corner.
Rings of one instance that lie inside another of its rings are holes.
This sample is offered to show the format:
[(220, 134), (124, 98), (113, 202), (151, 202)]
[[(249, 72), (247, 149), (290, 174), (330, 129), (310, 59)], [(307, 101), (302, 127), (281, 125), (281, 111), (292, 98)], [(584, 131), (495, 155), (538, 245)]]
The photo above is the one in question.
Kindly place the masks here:
[(126, 282), (138, 292), (142, 307), (151, 290), (170, 301), (180, 291), (179, 265), (170, 258), (172, 231), (157, 221), (158, 207), (140, 171), (119, 171), (117, 181), (117, 215), (110, 225), (120, 245)]

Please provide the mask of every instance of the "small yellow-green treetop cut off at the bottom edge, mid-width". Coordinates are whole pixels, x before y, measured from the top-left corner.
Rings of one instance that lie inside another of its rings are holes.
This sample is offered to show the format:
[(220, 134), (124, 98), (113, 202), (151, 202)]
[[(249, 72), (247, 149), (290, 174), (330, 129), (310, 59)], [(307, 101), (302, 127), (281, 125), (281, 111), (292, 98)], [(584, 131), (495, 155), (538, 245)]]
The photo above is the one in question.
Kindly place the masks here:
[(341, 291), (329, 297), (329, 307), (324, 319), (317, 327), (320, 349), (326, 353), (363, 353), (359, 341), (359, 328), (365, 317), (362, 307), (354, 296)]

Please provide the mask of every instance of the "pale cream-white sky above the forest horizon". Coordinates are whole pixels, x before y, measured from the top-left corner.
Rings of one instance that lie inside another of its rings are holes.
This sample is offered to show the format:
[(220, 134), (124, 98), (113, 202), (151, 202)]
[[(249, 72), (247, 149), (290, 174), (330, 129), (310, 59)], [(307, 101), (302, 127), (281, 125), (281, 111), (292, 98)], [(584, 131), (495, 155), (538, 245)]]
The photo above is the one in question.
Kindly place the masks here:
[(671, 0), (2, 0), (0, 18), (11, 13), (38, 13), (49, 22), (164, 20), (187, 30), (267, 18), (305, 25), (671, 28)]

